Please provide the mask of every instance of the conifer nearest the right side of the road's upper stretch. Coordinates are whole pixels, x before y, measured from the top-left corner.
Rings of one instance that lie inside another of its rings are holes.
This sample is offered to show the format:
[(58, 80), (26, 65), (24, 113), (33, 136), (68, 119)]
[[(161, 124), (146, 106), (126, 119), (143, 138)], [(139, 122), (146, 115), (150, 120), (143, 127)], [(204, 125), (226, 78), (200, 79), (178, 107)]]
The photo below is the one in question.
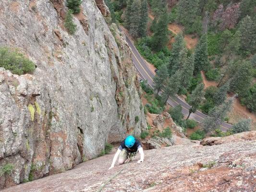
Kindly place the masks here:
[(168, 69), (166, 64), (162, 64), (157, 71), (157, 74), (154, 76), (154, 89), (157, 91), (157, 94), (159, 91), (163, 88), (163, 86), (166, 84), (166, 81), (168, 79)]

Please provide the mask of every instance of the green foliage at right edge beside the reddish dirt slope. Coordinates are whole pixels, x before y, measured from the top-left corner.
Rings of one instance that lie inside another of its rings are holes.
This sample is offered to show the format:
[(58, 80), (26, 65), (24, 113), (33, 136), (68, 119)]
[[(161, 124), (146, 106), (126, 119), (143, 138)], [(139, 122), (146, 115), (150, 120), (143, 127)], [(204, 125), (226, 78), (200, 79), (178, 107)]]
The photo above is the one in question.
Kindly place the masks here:
[(241, 99), (244, 104), (251, 112), (256, 112), (256, 84), (253, 84), (246, 95)]

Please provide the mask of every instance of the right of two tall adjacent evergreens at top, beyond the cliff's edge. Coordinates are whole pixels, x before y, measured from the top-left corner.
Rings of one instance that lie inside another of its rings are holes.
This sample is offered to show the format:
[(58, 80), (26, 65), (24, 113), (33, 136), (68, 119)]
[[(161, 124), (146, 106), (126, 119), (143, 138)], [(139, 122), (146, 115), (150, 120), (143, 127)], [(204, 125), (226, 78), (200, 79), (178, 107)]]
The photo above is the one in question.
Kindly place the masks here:
[(148, 8), (147, 0), (143, 0), (140, 9), (140, 25), (139, 25), (139, 36), (146, 36), (147, 19), (148, 19)]

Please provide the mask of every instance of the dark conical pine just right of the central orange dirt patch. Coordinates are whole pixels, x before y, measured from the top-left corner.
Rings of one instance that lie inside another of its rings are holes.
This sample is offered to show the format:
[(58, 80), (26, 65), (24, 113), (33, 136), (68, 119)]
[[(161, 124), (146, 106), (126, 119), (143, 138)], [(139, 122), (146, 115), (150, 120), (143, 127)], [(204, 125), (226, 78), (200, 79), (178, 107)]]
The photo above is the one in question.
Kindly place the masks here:
[(195, 70), (197, 74), (201, 70), (205, 70), (208, 65), (208, 51), (207, 51), (207, 35), (204, 34), (199, 39), (195, 47)]

